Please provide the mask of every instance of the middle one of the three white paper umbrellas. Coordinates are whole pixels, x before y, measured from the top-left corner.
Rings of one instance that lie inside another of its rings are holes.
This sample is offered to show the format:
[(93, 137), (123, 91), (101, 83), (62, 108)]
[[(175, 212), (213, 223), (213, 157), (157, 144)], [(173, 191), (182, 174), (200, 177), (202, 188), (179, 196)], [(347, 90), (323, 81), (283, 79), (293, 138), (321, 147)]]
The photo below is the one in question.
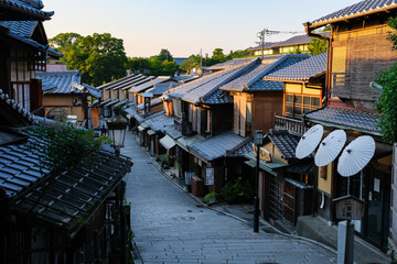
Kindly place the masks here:
[(346, 143), (346, 133), (343, 130), (332, 131), (321, 143), (314, 156), (316, 166), (322, 167), (333, 162)]

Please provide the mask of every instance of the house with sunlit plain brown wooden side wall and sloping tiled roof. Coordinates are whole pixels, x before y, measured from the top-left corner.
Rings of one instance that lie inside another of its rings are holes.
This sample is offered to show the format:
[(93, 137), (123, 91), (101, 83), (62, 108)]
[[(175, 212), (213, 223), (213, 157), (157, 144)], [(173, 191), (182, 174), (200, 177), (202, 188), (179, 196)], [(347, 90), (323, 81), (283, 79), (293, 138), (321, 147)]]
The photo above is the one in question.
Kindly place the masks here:
[(310, 55), (289, 54), (258, 59), (253, 70), (221, 88), (229, 91), (233, 97), (234, 133), (247, 136), (253, 135), (255, 130), (266, 133), (273, 127), (275, 114), (283, 113), (283, 82), (264, 78), (309, 57)]

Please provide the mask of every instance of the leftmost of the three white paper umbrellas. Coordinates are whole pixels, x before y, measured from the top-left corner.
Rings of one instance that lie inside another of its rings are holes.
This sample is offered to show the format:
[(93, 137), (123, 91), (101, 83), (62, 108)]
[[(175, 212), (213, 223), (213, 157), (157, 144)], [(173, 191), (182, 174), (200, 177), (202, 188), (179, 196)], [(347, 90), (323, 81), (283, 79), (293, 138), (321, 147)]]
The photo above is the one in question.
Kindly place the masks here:
[(300, 139), (296, 150), (296, 156), (300, 160), (309, 156), (319, 145), (323, 132), (324, 129), (321, 124), (310, 128)]

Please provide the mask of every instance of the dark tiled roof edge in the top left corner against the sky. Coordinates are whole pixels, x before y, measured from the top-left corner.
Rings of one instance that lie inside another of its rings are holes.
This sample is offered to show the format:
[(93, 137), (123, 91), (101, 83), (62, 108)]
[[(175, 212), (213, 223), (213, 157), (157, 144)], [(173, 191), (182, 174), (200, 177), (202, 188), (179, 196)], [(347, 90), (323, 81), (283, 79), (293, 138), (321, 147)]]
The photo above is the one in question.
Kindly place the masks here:
[(46, 12), (41, 1), (32, 0), (0, 0), (0, 8), (8, 11), (21, 13), (25, 20), (50, 20), (54, 12)]

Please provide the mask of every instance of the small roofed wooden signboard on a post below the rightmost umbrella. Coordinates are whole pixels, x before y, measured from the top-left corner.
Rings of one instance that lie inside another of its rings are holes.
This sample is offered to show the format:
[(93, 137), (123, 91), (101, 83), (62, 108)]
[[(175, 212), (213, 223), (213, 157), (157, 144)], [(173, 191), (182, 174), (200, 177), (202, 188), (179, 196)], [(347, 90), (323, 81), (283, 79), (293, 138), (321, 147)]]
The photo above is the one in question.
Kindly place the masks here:
[(341, 220), (361, 220), (364, 201), (354, 196), (343, 196), (333, 200), (336, 208), (336, 218)]

